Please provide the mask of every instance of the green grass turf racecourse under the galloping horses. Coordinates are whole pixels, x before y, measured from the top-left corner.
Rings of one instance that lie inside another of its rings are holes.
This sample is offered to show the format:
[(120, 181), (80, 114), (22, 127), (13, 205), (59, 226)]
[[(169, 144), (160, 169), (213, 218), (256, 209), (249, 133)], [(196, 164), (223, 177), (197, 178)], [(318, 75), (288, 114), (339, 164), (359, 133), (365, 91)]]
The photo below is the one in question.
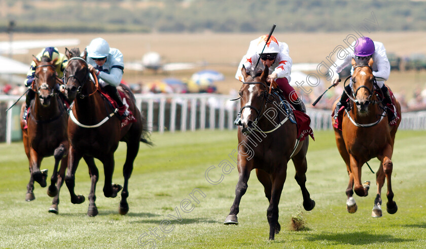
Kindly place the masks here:
[[(100, 173), (96, 217), (86, 216), (90, 181), (83, 160), (76, 174), (76, 193), (85, 195), (86, 201), (70, 203), (64, 184), (59, 215), (54, 215), (47, 212), (52, 198), (37, 183), (34, 184), (36, 199), (25, 201), (29, 173), (22, 143), (0, 144), (0, 247), (149, 248), (155, 242), (158, 248), (424, 248), (426, 244), (425, 131), (397, 133), (392, 181), (399, 210), (395, 215), (386, 213), (387, 188), (383, 187), (382, 218), (371, 217), (376, 188), (375, 175), (368, 167), (363, 167), (362, 180), (372, 182), (370, 194), (354, 196), (358, 211), (347, 213), (344, 191), (348, 177), (334, 133), (315, 132), (315, 142), (310, 142), (308, 151), (306, 185), (316, 206), (310, 212), (303, 210), (301, 191), (294, 180), (295, 170), (289, 163), (279, 204), (281, 232), (275, 241), (268, 241), (268, 202), (254, 172), (241, 200), (238, 226), (223, 225), (235, 197), (237, 169), (224, 174), (217, 185), (205, 179), (205, 172), (211, 166), (215, 168), (209, 172), (210, 179), (216, 181), (221, 176), (219, 164), (230, 159), (228, 154), (236, 149), (235, 131), (155, 133), (152, 139), (155, 146), (141, 144), (135, 160), (129, 183), (130, 211), (125, 216), (118, 214), (120, 195), (103, 196), (103, 168), (96, 160)], [(122, 184), (124, 143), (120, 144), (115, 158), (113, 181)], [(376, 171), (378, 160), (370, 162)], [(45, 158), (41, 168), (49, 169), (50, 177), (53, 158)], [(189, 196), (196, 188), (205, 194), (205, 197), (194, 194), (199, 203)], [(187, 213), (181, 208), (185, 199), (192, 201), (187, 206), (192, 210)], [(306, 218), (307, 229), (291, 231), (290, 218), (298, 212)], [(179, 217), (175, 218), (179, 221), (173, 217)], [(171, 222), (168, 226), (166, 220)], [(160, 224), (169, 231), (162, 232)], [(147, 244), (140, 246), (138, 242)]]

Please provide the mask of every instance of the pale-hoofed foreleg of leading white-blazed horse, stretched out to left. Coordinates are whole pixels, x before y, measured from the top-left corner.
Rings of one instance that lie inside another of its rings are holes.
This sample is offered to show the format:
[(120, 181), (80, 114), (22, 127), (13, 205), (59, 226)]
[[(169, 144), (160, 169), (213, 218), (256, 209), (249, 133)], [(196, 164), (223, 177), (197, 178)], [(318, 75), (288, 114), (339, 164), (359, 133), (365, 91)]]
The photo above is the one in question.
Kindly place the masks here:
[[(240, 154), (238, 154), (238, 157), (240, 157)], [(252, 170), (253, 159), (250, 161), (247, 161), (246, 158), (238, 159), (238, 182), (235, 186), (235, 199), (231, 206), (231, 211), (225, 219), (225, 225), (238, 225), (237, 214), (239, 213), (239, 203), (241, 197), (245, 194), (245, 191), (247, 191), (247, 181), (248, 178), (250, 178), (250, 172)]]

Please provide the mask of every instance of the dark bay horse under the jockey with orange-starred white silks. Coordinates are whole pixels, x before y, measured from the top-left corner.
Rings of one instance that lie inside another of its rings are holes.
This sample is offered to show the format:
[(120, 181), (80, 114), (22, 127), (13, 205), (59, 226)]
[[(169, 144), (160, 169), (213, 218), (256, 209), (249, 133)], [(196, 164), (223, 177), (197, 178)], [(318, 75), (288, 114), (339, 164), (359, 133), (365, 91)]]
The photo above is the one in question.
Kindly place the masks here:
[[(235, 200), (224, 224), (238, 225), (237, 214), (242, 195), (247, 190), (247, 181), (253, 169), (264, 186), (269, 201), (267, 218), (269, 239), (273, 240), (280, 231), (278, 223), (278, 203), (287, 177), (287, 163), (293, 160), (295, 179), (302, 190), (303, 207), (310, 211), (315, 201), (306, 189), (308, 139), (297, 144), (297, 127), (281, 115), (280, 101), (269, 94), (267, 85), (268, 67), (252, 76), (242, 68), (244, 82), (240, 89), (241, 125), (238, 127), (238, 183), (235, 187)], [(252, 74), (255, 74), (252, 72)], [(275, 102), (275, 104), (274, 104)], [(271, 112), (278, 113), (272, 115)], [(259, 144), (257, 144), (259, 142)], [(258, 145), (258, 146), (257, 146)]]

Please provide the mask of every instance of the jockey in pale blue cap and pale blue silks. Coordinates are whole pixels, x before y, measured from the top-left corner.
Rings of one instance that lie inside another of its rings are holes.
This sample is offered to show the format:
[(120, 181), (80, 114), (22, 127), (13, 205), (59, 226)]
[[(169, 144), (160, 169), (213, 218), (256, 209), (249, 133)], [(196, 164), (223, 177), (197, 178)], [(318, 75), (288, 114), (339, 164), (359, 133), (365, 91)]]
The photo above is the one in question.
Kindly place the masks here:
[(117, 102), (119, 110), (126, 109), (121, 116), (125, 118), (129, 112), (117, 91), (124, 72), (123, 54), (100, 37), (93, 39), (86, 49), (89, 70), (96, 74), (99, 85)]

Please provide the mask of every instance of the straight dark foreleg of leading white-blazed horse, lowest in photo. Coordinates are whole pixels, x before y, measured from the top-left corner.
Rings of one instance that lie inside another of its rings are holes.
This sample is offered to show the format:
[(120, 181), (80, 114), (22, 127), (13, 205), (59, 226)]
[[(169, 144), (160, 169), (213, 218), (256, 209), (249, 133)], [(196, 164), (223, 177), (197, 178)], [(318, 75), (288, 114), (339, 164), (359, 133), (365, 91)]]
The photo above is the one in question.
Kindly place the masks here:
[(272, 179), (272, 194), (271, 201), (269, 202), (268, 210), (266, 212), (266, 217), (268, 218), (269, 223), (269, 239), (275, 239), (276, 224), (278, 223), (278, 204), (281, 197), (282, 187), (287, 178), (287, 163), (280, 165), (277, 169), (279, 172), (273, 174)]

